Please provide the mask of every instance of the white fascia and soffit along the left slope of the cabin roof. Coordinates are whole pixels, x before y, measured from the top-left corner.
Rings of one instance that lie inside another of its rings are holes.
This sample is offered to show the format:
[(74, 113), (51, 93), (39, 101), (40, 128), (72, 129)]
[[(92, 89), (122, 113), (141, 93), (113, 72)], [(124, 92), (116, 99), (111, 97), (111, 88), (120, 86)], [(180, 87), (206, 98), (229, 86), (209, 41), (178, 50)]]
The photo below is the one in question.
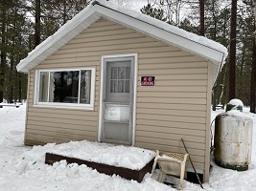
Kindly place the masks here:
[(61, 27), (58, 32), (49, 36), (45, 41), (39, 44), (35, 50), (21, 60), (16, 66), (18, 72), (28, 73), (29, 70), (37, 66), (41, 61), (48, 56), (57, 52), (59, 48), (65, 45), (68, 41), (76, 37), (83, 30), (88, 28), (93, 22), (99, 19), (99, 15), (94, 14), (96, 7), (91, 7), (89, 10), (82, 11), (76, 22), (69, 21), (70, 24)]

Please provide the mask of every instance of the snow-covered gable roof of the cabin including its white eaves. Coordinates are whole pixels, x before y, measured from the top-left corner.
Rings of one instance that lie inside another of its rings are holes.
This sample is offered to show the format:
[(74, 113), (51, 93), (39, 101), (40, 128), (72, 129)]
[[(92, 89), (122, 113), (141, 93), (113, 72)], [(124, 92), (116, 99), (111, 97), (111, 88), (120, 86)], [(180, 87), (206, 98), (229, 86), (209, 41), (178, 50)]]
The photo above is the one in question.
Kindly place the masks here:
[(63, 25), (58, 32), (38, 45), (34, 51), (20, 61), (17, 65), (17, 71), (28, 73), (101, 17), (212, 61), (214, 63), (213, 82), (227, 56), (226, 48), (220, 43), (198, 36), (195, 33), (186, 32), (142, 12), (129, 10), (128, 8), (105, 2), (105, 0), (98, 0), (92, 2), (87, 8)]

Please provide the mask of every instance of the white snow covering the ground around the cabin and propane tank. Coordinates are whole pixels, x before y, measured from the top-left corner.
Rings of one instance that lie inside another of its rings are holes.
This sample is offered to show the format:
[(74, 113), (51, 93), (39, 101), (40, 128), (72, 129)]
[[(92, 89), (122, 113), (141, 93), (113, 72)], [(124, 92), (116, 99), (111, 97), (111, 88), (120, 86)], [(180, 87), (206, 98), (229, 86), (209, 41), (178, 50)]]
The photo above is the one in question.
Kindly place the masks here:
[[(25, 105), (19, 108), (0, 108), (0, 191), (175, 190), (152, 180), (149, 174), (145, 176), (142, 183), (138, 183), (118, 176), (100, 174), (85, 165), (66, 164), (65, 161), (57, 162), (53, 166), (44, 164), (46, 148), (59, 151), (58, 146), (55, 144), (35, 147), (23, 145), (25, 108)], [(255, 126), (256, 115), (248, 111), (248, 108), (244, 108), (244, 113), (253, 118)], [(223, 110), (213, 112), (212, 119), (222, 112)], [(210, 182), (203, 184), (204, 190), (254, 190), (256, 187), (256, 131), (253, 135), (252, 160), (247, 171), (223, 169), (215, 165), (214, 161), (211, 163), (213, 169), (210, 173)], [(178, 183), (178, 180), (175, 182)], [(201, 188), (198, 184), (185, 181), (183, 190), (198, 191)]]

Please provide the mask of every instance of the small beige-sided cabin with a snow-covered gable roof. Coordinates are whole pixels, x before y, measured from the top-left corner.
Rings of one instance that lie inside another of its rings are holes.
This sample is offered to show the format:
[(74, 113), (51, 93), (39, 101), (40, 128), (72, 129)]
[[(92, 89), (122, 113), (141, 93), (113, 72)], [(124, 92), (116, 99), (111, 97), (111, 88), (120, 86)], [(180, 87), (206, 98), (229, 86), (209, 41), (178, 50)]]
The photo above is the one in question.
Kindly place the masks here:
[(203, 36), (94, 1), (17, 65), (28, 74), (25, 144), (185, 153), (183, 138), (208, 181), (211, 93), (226, 55)]

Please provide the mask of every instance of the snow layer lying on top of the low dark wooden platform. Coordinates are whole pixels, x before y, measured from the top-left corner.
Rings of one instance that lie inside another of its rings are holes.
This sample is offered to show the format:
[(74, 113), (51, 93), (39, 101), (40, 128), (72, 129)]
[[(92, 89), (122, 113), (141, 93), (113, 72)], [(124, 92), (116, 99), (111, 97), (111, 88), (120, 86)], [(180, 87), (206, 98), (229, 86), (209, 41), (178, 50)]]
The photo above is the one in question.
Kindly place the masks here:
[[(43, 149), (45, 153), (84, 159), (131, 170), (142, 169), (145, 164), (155, 157), (155, 153), (147, 149), (106, 143), (99, 144), (86, 140), (71, 141), (58, 145), (54, 143), (47, 144)], [(41, 148), (39, 148), (39, 151), (41, 151)]]

